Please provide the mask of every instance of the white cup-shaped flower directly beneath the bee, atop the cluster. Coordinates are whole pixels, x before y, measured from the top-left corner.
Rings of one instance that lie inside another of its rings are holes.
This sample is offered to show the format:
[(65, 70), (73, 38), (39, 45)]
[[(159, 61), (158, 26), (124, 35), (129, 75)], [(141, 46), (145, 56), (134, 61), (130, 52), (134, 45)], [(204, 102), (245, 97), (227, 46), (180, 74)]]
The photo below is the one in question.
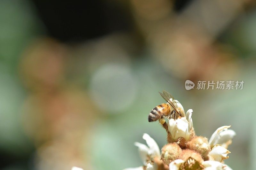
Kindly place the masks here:
[(168, 130), (171, 133), (173, 140), (180, 137), (188, 140), (190, 135), (189, 122), (187, 121), (186, 117), (181, 117), (177, 120), (170, 119), (168, 122)]

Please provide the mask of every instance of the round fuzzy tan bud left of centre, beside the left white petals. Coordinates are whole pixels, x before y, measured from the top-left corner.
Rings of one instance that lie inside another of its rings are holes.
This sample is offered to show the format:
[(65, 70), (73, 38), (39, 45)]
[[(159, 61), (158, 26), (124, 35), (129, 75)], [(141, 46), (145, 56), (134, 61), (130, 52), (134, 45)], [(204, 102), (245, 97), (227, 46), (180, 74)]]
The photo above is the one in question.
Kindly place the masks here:
[(166, 165), (169, 165), (173, 160), (178, 159), (180, 157), (181, 152), (182, 150), (178, 144), (166, 144), (162, 148), (161, 160)]

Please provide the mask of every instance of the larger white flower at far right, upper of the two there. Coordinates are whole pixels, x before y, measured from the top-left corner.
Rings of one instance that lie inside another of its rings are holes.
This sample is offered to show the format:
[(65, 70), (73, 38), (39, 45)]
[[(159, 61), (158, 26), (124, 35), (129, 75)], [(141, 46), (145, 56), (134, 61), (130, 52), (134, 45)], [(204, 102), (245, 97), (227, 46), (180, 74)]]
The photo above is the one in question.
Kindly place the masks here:
[(225, 148), (228, 148), (228, 145), (232, 143), (232, 139), (236, 135), (234, 130), (228, 129), (229, 127), (230, 126), (222, 126), (215, 130), (209, 140), (211, 147), (215, 146), (216, 144), (221, 144)]

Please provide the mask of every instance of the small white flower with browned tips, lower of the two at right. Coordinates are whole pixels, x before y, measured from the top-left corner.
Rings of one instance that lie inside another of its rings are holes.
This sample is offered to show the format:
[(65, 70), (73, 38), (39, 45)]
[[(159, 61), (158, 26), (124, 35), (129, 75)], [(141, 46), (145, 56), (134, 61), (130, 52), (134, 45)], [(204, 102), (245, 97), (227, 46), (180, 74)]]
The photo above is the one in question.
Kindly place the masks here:
[(228, 159), (228, 153), (230, 153), (225, 147), (220, 144), (215, 145), (209, 155), (215, 160), (222, 162), (224, 159)]

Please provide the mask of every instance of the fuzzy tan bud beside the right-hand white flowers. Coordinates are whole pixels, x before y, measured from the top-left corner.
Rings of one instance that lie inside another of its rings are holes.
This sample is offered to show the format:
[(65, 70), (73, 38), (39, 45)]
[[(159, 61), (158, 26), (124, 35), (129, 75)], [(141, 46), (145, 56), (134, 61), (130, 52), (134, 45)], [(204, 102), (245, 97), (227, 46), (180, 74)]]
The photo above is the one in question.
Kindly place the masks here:
[(194, 150), (202, 155), (204, 159), (209, 159), (207, 156), (211, 151), (211, 146), (208, 144), (206, 137), (195, 137), (187, 144), (188, 149)]

